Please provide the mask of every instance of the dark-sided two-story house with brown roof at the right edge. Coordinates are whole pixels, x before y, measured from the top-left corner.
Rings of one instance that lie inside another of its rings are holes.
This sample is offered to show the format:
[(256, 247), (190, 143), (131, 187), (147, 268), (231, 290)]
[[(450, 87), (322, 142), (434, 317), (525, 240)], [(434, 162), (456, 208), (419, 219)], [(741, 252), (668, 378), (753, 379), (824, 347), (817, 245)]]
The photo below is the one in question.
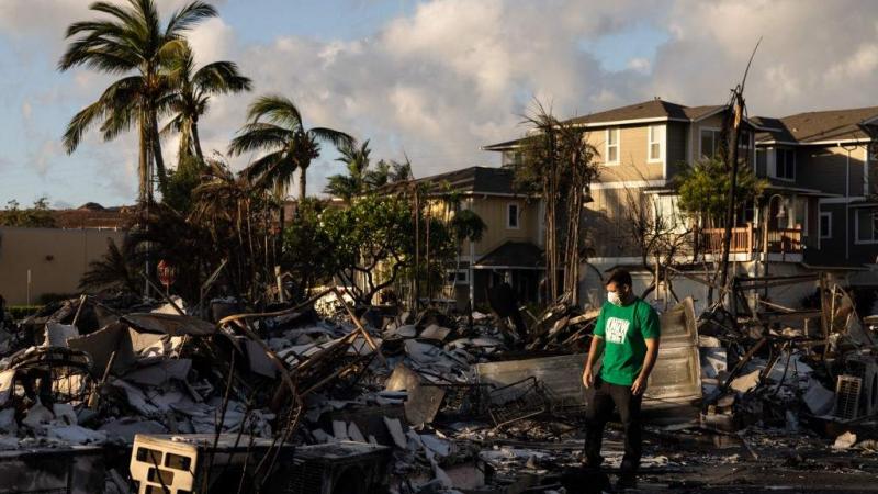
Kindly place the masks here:
[(878, 106), (754, 119), (756, 169), (785, 190), (819, 190), (802, 227), (807, 266), (878, 263)]

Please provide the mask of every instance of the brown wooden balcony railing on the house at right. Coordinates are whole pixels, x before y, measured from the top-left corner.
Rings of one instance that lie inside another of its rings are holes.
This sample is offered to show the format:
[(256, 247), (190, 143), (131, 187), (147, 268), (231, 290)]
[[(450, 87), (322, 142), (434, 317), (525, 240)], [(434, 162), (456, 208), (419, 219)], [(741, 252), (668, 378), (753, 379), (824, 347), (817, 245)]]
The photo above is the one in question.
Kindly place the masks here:
[[(701, 231), (700, 245), (705, 252), (721, 254), (724, 228), (707, 228)], [(761, 252), (763, 232), (754, 228), (752, 223), (732, 228), (731, 254)], [(801, 228), (769, 228), (768, 252), (801, 254)]]

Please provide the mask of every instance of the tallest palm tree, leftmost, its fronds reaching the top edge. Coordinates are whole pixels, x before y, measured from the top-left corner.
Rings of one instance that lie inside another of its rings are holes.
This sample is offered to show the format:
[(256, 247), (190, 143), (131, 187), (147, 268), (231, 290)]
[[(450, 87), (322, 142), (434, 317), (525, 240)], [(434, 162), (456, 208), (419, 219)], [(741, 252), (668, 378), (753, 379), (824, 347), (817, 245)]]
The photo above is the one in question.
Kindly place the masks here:
[(136, 123), (140, 148), (139, 199), (148, 201), (150, 165), (155, 164), (161, 189), (166, 178), (158, 119), (167, 110), (160, 100), (170, 90), (170, 81), (162, 69), (175, 50), (180, 49), (185, 32), (216, 15), (216, 9), (202, 1), (189, 2), (171, 14), (164, 27), (154, 0), (126, 0), (122, 5), (99, 1), (89, 9), (103, 16), (76, 22), (67, 29), (70, 44), (58, 61), (58, 69), (86, 66), (124, 77), (72, 117), (64, 145), (67, 153), (72, 153), (86, 131), (99, 122), (104, 141), (115, 138)]

